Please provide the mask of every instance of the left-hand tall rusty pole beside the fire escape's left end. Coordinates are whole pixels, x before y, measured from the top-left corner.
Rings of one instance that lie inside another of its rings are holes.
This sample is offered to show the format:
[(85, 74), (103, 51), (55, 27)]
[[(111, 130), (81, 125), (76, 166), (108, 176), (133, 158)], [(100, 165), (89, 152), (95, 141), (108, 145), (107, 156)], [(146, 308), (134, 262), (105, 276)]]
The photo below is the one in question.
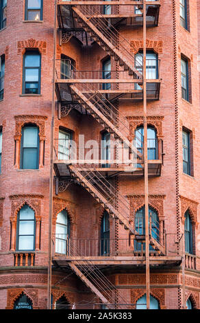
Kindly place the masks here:
[(56, 54), (56, 16), (57, 0), (54, 2), (54, 27), (53, 27), (53, 78), (52, 78), (52, 103), (51, 103), (51, 142), (50, 142), (50, 175), (49, 175), (49, 262), (47, 280), (47, 309), (51, 309), (51, 263), (52, 263), (52, 217), (53, 217), (53, 140), (55, 116), (55, 54)]

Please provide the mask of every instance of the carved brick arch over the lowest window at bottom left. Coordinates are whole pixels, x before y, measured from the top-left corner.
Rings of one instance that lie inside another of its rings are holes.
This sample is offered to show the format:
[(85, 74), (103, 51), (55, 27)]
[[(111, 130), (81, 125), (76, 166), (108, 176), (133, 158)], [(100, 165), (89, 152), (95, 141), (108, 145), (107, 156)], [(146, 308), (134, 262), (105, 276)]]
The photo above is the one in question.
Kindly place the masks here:
[(38, 289), (8, 289), (7, 307), (13, 309), (14, 302), (24, 293), (33, 304), (33, 309), (38, 309)]

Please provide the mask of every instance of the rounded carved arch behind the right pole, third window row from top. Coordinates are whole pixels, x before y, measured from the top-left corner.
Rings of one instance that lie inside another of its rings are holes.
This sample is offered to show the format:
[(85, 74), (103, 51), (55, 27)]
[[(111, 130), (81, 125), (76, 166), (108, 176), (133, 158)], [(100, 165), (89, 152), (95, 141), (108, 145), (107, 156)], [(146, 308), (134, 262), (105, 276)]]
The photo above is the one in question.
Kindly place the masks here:
[[(142, 115), (140, 116), (129, 116), (127, 117), (127, 120), (129, 121), (129, 135), (130, 137), (134, 137), (135, 136), (135, 131), (137, 129), (138, 126), (142, 126), (143, 125), (143, 117)], [(147, 124), (148, 126), (153, 126), (156, 131), (157, 131), (157, 137), (158, 138), (162, 138), (163, 137), (163, 133), (162, 133), (162, 122), (164, 120), (164, 117), (162, 116), (148, 116), (147, 117)]]

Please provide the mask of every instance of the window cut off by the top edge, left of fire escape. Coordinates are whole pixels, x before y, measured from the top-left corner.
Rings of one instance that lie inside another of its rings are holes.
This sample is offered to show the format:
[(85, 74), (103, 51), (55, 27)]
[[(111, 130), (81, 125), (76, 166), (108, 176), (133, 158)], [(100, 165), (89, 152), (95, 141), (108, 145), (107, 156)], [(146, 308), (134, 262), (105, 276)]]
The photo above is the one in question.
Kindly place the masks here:
[(42, 0), (25, 0), (25, 20), (42, 20)]

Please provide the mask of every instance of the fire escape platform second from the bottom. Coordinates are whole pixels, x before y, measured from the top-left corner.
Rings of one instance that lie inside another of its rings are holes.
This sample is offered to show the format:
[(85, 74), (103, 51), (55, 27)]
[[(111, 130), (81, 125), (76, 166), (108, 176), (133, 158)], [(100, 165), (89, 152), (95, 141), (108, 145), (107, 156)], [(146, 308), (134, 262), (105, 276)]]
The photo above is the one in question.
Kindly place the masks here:
[[(108, 161), (109, 163), (109, 161)], [(70, 172), (68, 170), (68, 165), (73, 164), (72, 161), (69, 160), (55, 160), (53, 164), (53, 168), (55, 171), (55, 175), (58, 177), (68, 177), (70, 176)], [(86, 164), (86, 161), (85, 161)], [(91, 161), (90, 161), (91, 164)], [(96, 163), (94, 163), (96, 164)], [(148, 160), (148, 170), (149, 177), (157, 177), (161, 174), (162, 168), (162, 160)], [(77, 168), (78, 169), (78, 168)], [(92, 172), (100, 172), (102, 177), (113, 177), (116, 175), (132, 175), (132, 177), (140, 177), (144, 175), (143, 167), (133, 167), (133, 166), (110, 166), (108, 167), (92, 167), (86, 164), (86, 167), (83, 166), (79, 169), (82, 171), (92, 171)]]

